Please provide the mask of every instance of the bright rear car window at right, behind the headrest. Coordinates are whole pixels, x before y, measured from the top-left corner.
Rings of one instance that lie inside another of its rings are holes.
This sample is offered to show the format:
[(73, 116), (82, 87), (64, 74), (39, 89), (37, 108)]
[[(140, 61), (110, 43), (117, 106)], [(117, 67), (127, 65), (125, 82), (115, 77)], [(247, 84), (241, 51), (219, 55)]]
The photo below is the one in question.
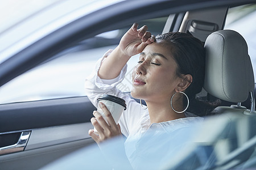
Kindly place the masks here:
[(256, 80), (256, 5), (245, 5), (230, 8), (225, 29), (232, 29), (240, 33), (247, 42), (249, 56), (254, 70)]

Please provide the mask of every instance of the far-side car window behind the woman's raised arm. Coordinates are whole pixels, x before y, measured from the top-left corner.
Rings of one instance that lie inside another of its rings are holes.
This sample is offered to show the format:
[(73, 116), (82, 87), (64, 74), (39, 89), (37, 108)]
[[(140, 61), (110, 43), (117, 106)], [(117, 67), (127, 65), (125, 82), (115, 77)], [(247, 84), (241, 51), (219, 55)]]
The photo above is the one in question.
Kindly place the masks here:
[[(153, 35), (162, 33), (167, 17), (138, 22), (147, 24)], [(84, 82), (92, 73), (95, 63), (109, 49), (114, 49), (126, 27), (101, 33), (79, 42), (57, 54), (50, 61), (27, 71), (0, 88), (0, 103), (57, 99), (60, 97), (86, 96)], [(125, 79), (117, 87), (122, 92), (131, 90), (131, 72), (138, 62), (134, 56), (128, 62)]]

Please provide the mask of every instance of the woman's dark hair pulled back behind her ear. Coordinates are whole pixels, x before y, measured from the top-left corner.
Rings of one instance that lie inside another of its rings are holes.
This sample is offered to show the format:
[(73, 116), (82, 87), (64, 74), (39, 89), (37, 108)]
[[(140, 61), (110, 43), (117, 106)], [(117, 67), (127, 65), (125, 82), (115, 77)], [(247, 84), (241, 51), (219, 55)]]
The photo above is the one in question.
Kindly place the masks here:
[[(174, 46), (171, 54), (177, 63), (176, 75), (182, 77), (182, 74), (190, 74), (193, 78), (192, 83), (185, 90), (189, 98), (187, 111), (197, 116), (210, 114), (220, 104), (220, 100), (207, 101), (196, 96), (201, 92), (204, 84), (205, 50), (203, 43), (196, 37), (182, 32), (164, 33), (156, 36), (156, 40), (165, 40)], [(187, 98), (183, 97), (183, 101), (187, 103)]]

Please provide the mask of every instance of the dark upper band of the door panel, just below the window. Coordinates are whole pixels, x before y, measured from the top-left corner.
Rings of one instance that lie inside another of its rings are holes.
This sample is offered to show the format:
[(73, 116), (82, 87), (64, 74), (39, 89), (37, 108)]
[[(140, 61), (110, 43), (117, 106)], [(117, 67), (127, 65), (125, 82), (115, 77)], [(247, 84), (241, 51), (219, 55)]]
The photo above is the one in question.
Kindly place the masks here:
[(95, 109), (87, 97), (2, 104), (0, 133), (89, 122)]

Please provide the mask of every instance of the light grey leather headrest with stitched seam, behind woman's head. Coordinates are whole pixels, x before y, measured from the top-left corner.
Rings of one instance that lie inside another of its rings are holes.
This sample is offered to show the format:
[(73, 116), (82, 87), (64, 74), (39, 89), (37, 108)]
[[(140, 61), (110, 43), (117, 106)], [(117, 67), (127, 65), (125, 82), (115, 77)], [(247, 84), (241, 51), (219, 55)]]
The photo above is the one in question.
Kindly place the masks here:
[(236, 31), (216, 31), (207, 37), (205, 52), (205, 90), (225, 101), (245, 101), (254, 90), (253, 67), (245, 39)]

